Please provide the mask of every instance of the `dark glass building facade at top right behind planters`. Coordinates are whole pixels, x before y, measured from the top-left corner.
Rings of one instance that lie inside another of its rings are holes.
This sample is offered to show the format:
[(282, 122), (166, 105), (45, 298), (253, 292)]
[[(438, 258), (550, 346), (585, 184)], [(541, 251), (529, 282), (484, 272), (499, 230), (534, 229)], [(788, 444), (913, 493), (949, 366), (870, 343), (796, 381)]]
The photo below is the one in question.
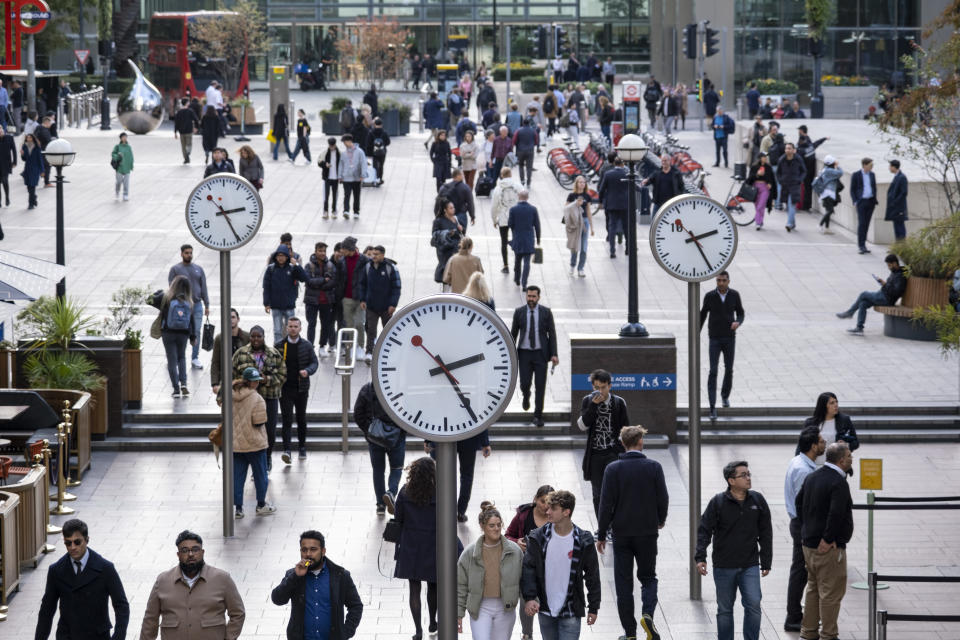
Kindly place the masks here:
[[(924, 1), (943, 4), (936, 0), (836, 3), (836, 20), (823, 42), (823, 74), (866, 76), (877, 85), (909, 81), (903, 77), (901, 57), (911, 53), (910, 40), (919, 41), (923, 21), (936, 15), (923, 15)], [(801, 91), (811, 89), (813, 58), (808, 55), (803, 2), (736, 0), (735, 20), (738, 90), (754, 78), (792, 80)]]

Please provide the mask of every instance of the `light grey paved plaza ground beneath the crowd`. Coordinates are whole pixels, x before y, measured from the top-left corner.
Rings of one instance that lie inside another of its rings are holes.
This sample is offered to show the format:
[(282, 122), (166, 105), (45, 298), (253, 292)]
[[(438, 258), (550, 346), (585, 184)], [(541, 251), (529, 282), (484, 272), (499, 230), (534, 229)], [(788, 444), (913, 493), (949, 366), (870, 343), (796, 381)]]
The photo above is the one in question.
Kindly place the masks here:
[[(354, 97), (357, 97), (356, 95)], [(319, 94), (297, 94), (311, 113), (329, 100)], [(262, 103), (265, 94), (258, 94)], [(314, 154), (324, 147), (319, 122), (314, 119)], [(688, 122), (688, 129), (695, 128)], [(261, 305), (260, 278), (267, 256), (284, 231), (294, 235), (295, 248), (310, 253), (314, 242), (333, 244), (347, 235), (361, 246), (383, 244), (388, 257), (397, 261), (403, 278), (401, 303), (438, 291), (432, 275), (435, 253), (429, 246), (435, 187), (430, 163), (423, 149), (425, 136), (414, 133), (395, 138), (390, 146), (386, 184), (364, 189), (359, 220), (320, 217), (322, 181), (319, 169), (268, 159), (263, 138), (251, 144), (266, 165), (263, 191), (266, 217), (256, 240), (233, 256), (233, 301), (244, 327), (258, 323), (270, 326)], [(182, 165), (179, 144), (169, 123), (148, 136), (131, 136), (136, 162), (131, 180), (131, 200), (113, 198), (113, 174), (109, 151), (119, 133), (96, 129), (66, 129), (62, 137), (78, 151), (75, 164), (65, 175), (67, 291), (97, 315), (106, 314), (112, 292), (120, 287), (142, 286), (151, 290), (166, 286), (167, 272), (179, 260), (178, 248), (191, 237), (184, 221), (184, 203), (190, 188), (202, 177), (199, 141), (194, 161)], [(811, 131), (814, 137), (817, 133)], [(695, 155), (710, 164), (713, 145), (706, 134), (688, 130), (679, 136), (691, 144)], [(231, 155), (240, 143), (229, 140)], [(829, 150), (825, 150), (829, 152)], [(316, 156), (314, 157), (316, 161)], [(543, 265), (535, 265), (531, 283), (544, 288), (543, 302), (550, 306), (560, 333), (560, 366), (548, 381), (548, 411), (569, 410), (570, 347), (573, 333), (615, 333), (626, 319), (626, 259), (618, 247), (611, 260), (598, 231), (590, 240), (587, 277), (570, 277), (569, 254), (560, 223), (564, 192), (550, 175), (544, 156), (537, 156), (531, 202), (540, 210), (543, 225)], [(714, 170), (708, 178), (711, 192), (722, 195), (729, 172)], [(41, 190), (40, 207), (26, 210), (26, 192), (14, 185), (14, 206), (0, 210), (6, 240), (3, 248), (52, 260), (54, 258), (54, 190)], [(817, 394), (835, 391), (841, 405), (919, 405), (957, 400), (956, 358), (944, 359), (936, 344), (886, 338), (878, 314), (870, 313), (866, 335), (847, 335), (849, 321), (837, 320), (836, 311), (849, 306), (863, 289), (875, 287), (870, 277), (883, 268), (885, 247), (860, 256), (849, 232), (816, 233), (816, 218), (798, 217), (797, 232), (787, 234), (782, 213), (774, 213), (769, 230), (757, 233), (741, 229), (740, 247), (731, 269), (731, 286), (738, 289), (746, 308), (746, 322), (738, 341), (736, 379), (731, 400), (735, 406), (812, 407)], [(878, 216), (882, 217), (882, 216)], [(522, 304), (512, 278), (499, 273), (499, 235), (489, 215), (489, 200), (477, 201), (478, 226), (470, 235), (476, 253), (489, 274), (497, 308), (509, 320), (512, 308)], [(602, 218), (600, 218), (602, 225)], [(884, 224), (882, 221), (879, 224)], [(650, 256), (646, 233), (641, 228), (640, 317), (654, 334), (673, 334), (677, 340), (679, 393), (685, 406), (686, 376), (686, 286), (667, 276)], [(195, 244), (195, 243), (194, 243)], [(214, 316), (219, 318), (219, 273), (215, 252), (197, 247), (195, 261), (207, 272)], [(709, 287), (704, 285), (704, 291)], [(52, 293), (52, 292), (51, 292)], [(301, 306), (302, 309), (302, 306)], [(152, 316), (140, 327), (147, 332)], [(219, 319), (215, 320), (219, 324)], [(706, 336), (702, 338), (705, 350)], [(209, 367), (209, 354), (202, 356)], [(705, 369), (705, 363), (704, 363)], [(169, 397), (169, 380), (159, 341), (147, 339), (144, 347), (144, 410), (150, 412), (213, 413), (216, 404), (209, 391), (207, 369), (191, 371), (188, 400)], [(705, 377), (705, 372), (704, 372)], [(354, 377), (354, 393), (369, 378), (360, 366)], [(332, 367), (323, 366), (314, 377), (310, 408), (339, 410), (340, 385)], [(519, 410), (519, 398), (510, 407)], [(783, 509), (783, 474), (792, 456), (792, 446), (715, 445), (703, 450), (704, 504), (723, 487), (721, 469), (734, 458), (751, 462), (754, 489), (761, 491), (774, 513), (773, 572), (763, 580), (764, 619), (762, 637), (796, 638), (783, 632), (784, 601), (790, 543), (788, 519)], [(414, 457), (413, 450), (408, 460)], [(704, 599), (688, 599), (687, 560), (687, 449), (671, 446), (650, 456), (663, 464), (671, 494), (668, 524), (660, 538), (659, 575), (661, 607), (657, 624), (665, 639), (715, 637), (716, 609), (713, 584), (703, 581)], [(860, 457), (885, 460), (886, 495), (922, 496), (956, 493), (960, 486), (960, 445), (885, 444), (865, 445)], [(365, 452), (311, 453), (306, 463), (275, 468), (272, 496), (279, 512), (272, 518), (248, 516), (237, 522), (236, 537), (224, 540), (221, 533), (220, 472), (209, 454), (113, 453), (97, 451), (93, 468), (76, 493), (77, 516), (91, 526), (91, 547), (117, 564), (131, 602), (128, 638), (136, 638), (145, 600), (157, 573), (175, 563), (173, 539), (184, 528), (206, 538), (207, 561), (229, 570), (240, 586), (247, 606), (244, 638), (283, 638), (289, 610), (269, 602), (269, 592), (283, 572), (297, 559), (297, 534), (318, 528), (327, 535), (330, 557), (353, 572), (365, 610), (360, 638), (403, 638), (413, 633), (406, 608), (406, 585), (391, 579), (392, 545), (381, 548), (383, 519), (374, 514), (370, 465)], [(574, 491), (579, 500), (574, 521), (593, 529), (590, 488), (582, 481), (580, 452), (498, 451), (478, 462), (471, 522), (460, 525), (464, 542), (479, 535), (473, 516), (482, 499), (493, 499), (504, 510), (529, 501), (536, 487), (550, 482)], [(854, 499), (864, 494), (851, 480)], [(252, 487), (248, 486), (248, 512)], [(925, 575), (958, 575), (960, 521), (955, 511), (889, 511), (877, 516), (876, 566), (880, 571)], [(864, 579), (866, 567), (866, 515), (854, 515), (856, 532), (850, 545), (849, 582)], [(57, 518), (62, 521), (63, 518)], [(55, 556), (63, 553), (57, 541)], [(21, 592), (12, 600), (9, 620), (0, 625), (0, 637), (20, 640), (32, 636), (43, 591), (46, 558), (36, 571), (26, 571)], [(619, 627), (613, 596), (612, 557), (602, 561), (603, 604), (597, 624), (584, 637), (616, 638)], [(379, 567), (379, 568), (378, 568)], [(639, 587), (638, 587), (639, 589)], [(955, 613), (960, 591), (953, 585), (894, 585), (880, 596), (882, 608), (891, 612)], [(637, 594), (639, 600), (639, 593)], [(741, 610), (737, 605), (737, 626)], [(840, 622), (844, 640), (864, 639), (865, 592), (849, 590)], [(465, 629), (464, 636), (469, 633)], [(519, 637), (519, 625), (515, 634)], [(891, 638), (956, 638), (956, 626), (940, 624), (899, 625)], [(539, 631), (535, 635), (539, 637)], [(739, 635), (739, 634), (738, 634)]]

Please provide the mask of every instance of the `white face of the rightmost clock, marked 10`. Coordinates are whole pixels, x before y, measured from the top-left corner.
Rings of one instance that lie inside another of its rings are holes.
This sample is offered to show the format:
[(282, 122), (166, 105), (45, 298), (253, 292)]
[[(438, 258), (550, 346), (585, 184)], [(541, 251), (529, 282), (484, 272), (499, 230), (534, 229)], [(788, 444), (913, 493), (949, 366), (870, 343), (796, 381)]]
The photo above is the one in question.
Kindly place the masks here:
[(660, 207), (650, 225), (650, 249), (670, 275), (702, 282), (733, 260), (737, 226), (719, 202), (706, 196), (677, 196)]

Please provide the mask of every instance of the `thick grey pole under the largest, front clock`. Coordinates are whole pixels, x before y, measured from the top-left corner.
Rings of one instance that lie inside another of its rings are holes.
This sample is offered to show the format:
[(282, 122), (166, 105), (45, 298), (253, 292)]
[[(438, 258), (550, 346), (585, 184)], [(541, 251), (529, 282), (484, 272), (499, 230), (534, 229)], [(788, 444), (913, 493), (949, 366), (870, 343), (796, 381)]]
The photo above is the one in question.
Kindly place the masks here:
[(457, 640), (457, 443), (436, 447), (438, 640)]

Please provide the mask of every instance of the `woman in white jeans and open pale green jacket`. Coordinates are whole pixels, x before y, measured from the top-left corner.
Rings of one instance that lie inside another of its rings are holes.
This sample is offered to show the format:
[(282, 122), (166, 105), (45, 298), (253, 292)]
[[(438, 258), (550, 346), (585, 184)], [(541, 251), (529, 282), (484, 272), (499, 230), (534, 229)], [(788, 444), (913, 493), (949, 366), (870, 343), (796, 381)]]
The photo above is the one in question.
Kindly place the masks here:
[(517, 618), (523, 552), (501, 534), (503, 519), (491, 502), (480, 505), (483, 535), (457, 562), (457, 628), (470, 614), (474, 640), (509, 640)]

